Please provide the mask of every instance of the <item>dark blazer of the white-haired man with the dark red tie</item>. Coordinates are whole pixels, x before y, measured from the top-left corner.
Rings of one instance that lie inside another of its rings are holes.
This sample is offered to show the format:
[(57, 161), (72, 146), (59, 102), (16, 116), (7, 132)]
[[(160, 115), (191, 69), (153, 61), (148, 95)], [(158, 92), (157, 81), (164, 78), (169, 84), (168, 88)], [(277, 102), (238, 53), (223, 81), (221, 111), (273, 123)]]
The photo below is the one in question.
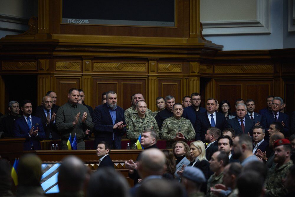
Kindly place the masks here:
[[(253, 126), (255, 126), (254, 121), (252, 119), (248, 118), (247, 116), (245, 116), (244, 125), (245, 125), (245, 134), (250, 133), (250, 136), (252, 136), (252, 134), (253, 134), (252, 128), (253, 128)], [(235, 130), (236, 136), (238, 134), (243, 133), (242, 127), (241, 127), (237, 117), (228, 120), (228, 126)]]

